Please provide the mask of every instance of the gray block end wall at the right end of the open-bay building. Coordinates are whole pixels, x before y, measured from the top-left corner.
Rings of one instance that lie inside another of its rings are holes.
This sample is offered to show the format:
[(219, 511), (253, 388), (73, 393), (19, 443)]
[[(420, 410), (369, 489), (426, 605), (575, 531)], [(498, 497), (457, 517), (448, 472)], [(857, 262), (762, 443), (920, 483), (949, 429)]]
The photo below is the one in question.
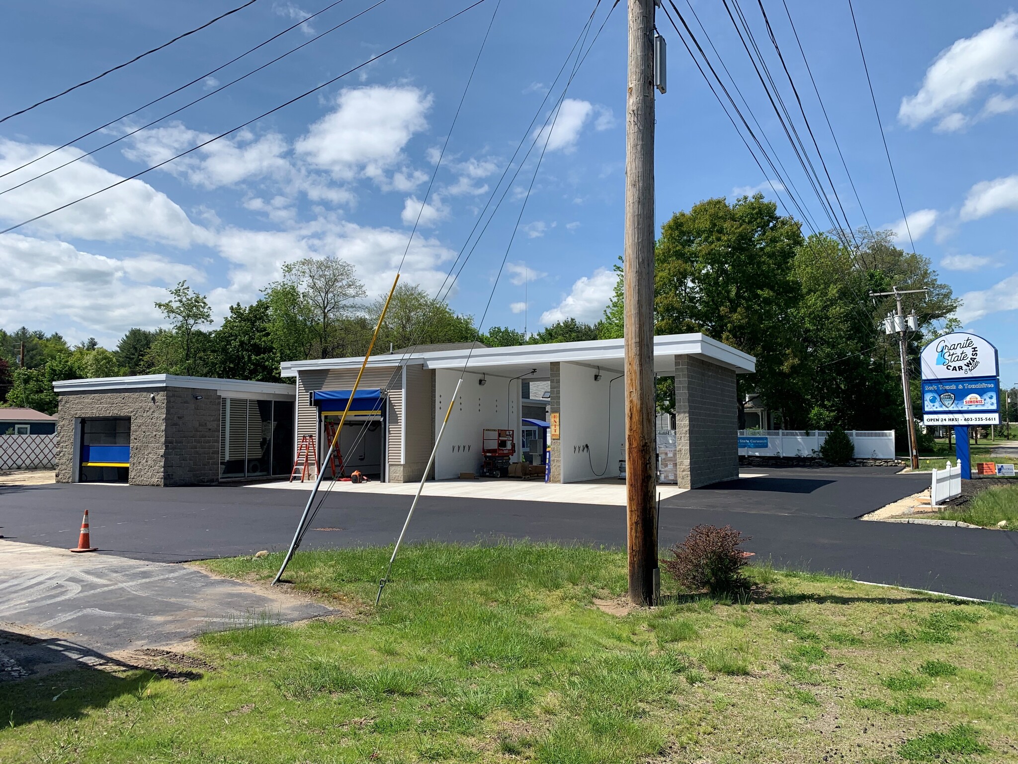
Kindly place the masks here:
[(739, 477), (735, 372), (675, 357), (675, 440), (680, 488)]

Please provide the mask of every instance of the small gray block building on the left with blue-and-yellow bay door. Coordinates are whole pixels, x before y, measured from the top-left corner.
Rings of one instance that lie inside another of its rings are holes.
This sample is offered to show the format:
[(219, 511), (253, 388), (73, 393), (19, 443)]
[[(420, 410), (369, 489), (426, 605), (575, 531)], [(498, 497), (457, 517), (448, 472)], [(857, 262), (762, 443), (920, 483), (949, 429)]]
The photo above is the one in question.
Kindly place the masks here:
[(150, 374), (53, 389), (60, 483), (211, 485), (293, 466), (293, 385)]

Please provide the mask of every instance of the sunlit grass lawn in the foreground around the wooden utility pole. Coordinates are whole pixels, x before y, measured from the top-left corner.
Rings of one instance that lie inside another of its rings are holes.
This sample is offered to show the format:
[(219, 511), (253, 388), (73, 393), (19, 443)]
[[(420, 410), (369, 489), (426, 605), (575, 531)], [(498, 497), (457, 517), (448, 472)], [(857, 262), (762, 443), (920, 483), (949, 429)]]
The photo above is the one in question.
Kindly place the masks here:
[(298, 553), (295, 586), (350, 616), (206, 634), (200, 678), (0, 684), (0, 761), (1018, 762), (1003, 605), (762, 567), (743, 604), (617, 614), (619, 552), (429, 544), (376, 610), (388, 553)]

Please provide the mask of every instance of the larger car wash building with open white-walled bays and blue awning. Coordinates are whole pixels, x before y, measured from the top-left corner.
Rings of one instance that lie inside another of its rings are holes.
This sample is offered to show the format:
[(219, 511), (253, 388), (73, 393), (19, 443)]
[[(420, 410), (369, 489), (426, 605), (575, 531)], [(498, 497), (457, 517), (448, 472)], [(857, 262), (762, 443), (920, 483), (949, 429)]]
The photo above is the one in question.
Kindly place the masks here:
[[(296, 437), (313, 440), (320, 457), (362, 362), (348, 358), (282, 365), (282, 376), (296, 381)], [(655, 337), (655, 374), (675, 379), (679, 486), (738, 477), (735, 378), (753, 372), (754, 363), (751, 356), (703, 334)], [(617, 478), (625, 457), (622, 370), (622, 339), (514, 347), (431, 345), (375, 356), (340, 433), (343, 469), (382, 481), (420, 480), (437, 424), (451, 402), (432, 479), (479, 475), (486, 430), (513, 431), (509, 461), (545, 466), (550, 482)], [(536, 390), (543, 390), (538, 399), (532, 397)], [(541, 404), (547, 419), (539, 419)]]

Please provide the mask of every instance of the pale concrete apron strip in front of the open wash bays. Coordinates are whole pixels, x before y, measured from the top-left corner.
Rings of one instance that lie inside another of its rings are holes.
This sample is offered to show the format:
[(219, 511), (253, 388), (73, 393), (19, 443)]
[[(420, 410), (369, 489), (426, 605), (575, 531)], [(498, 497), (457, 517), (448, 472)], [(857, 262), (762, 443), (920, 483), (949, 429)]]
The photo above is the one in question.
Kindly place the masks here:
[[(256, 483), (247, 488), (279, 488), (283, 490), (309, 491), (314, 481), (306, 483)], [(387, 494), (412, 496), (419, 483), (348, 483), (343, 481), (322, 481), (322, 492), (337, 494)], [(669, 499), (685, 493), (688, 488), (660, 485), (658, 492), (662, 499)], [(545, 483), (538, 480), (477, 479), (477, 480), (430, 480), (425, 484), (423, 496), (447, 496), (469, 499), (509, 499), (511, 501), (551, 501), (565, 504), (604, 504), (625, 506), (626, 484), (615, 479), (588, 483)]]

